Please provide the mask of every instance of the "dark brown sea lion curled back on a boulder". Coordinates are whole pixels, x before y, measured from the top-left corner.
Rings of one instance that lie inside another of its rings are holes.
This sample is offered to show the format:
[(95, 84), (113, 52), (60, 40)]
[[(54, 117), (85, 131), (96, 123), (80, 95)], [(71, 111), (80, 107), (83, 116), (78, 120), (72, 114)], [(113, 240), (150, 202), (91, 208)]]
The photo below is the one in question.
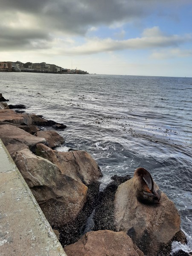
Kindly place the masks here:
[(134, 171), (134, 190), (137, 200), (143, 204), (160, 204), (161, 191), (154, 189), (154, 181), (151, 174), (140, 167)]

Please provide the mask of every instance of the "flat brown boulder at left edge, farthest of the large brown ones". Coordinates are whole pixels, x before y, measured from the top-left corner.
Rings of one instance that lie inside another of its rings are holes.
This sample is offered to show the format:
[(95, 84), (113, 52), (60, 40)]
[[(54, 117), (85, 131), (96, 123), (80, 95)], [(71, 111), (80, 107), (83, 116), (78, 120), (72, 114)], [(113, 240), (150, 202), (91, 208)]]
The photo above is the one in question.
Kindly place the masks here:
[(0, 121), (18, 125), (32, 125), (32, 119), (28, 114), (16, 113), (12, 109), (0, 109)]

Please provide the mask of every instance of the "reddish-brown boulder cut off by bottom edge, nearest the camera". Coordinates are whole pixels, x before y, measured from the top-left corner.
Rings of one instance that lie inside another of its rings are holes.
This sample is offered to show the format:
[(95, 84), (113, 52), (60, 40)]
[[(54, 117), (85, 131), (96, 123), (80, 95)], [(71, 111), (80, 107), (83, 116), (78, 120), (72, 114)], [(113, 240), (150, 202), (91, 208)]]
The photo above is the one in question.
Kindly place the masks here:
[(68, 256), (144, 256), (124, 232), (111, 230), (88, 232), (64, 250)]

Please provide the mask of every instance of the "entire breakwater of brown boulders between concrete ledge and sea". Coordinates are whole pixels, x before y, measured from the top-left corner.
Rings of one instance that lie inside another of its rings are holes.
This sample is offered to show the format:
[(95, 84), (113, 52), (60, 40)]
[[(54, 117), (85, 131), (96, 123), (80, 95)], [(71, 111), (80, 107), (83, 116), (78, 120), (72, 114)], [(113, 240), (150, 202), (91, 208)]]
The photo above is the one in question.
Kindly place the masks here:
[[(133, 178), (113, 176), (99, 192), (96, 161), (85, 151), (54, 150), (64, 139), (41, 131), (49, 126), (65, 128), (6, 104), (0, 109), (0, 138), (68, 256), (169, 256), (172, 241), (186, 243), (174, 203), (147, 170), (137, 169)], [(85, 233), (90, 214), (94, 231)]]

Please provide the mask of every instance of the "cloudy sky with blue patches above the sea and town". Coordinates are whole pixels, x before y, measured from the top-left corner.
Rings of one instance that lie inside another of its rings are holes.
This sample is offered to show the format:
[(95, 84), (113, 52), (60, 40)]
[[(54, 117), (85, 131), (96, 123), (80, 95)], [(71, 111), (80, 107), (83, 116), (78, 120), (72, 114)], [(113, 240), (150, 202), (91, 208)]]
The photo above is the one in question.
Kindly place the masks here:
[(0, 0), (0, 61), (192, 77), (192, 0)]

